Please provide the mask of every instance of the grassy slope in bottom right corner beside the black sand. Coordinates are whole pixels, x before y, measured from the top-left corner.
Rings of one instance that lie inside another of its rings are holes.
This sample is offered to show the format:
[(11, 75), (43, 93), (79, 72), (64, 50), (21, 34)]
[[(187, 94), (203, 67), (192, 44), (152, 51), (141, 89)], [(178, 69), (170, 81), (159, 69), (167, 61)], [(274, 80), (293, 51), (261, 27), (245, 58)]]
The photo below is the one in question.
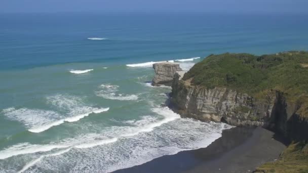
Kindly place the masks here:
[(279, 160), (259, 166), (256, 172), (308, 173), (308, 144), (289, 145)]

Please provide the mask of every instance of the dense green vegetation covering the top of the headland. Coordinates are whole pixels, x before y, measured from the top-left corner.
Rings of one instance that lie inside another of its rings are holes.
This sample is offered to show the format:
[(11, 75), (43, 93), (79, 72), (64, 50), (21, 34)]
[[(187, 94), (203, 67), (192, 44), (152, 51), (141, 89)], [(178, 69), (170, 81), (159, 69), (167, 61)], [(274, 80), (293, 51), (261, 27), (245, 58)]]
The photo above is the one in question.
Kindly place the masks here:
[[(210, 55), (197, 63), (183, 80), (206, 88), (228, 87), (256, 98), (267, 91), (287, 94), (292, 101), (308, 100), (308, 52), (284, 52), (272, 55)], [(307, 110), (308, 112), (308, 110)]]

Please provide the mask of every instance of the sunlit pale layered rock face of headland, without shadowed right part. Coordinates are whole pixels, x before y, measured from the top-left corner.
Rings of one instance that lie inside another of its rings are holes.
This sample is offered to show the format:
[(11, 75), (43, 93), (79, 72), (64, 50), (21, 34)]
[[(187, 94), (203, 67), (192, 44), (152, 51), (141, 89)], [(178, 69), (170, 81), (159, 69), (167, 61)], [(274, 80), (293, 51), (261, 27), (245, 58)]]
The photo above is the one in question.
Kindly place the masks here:
[(189, 80), (179, 80), (176, 74), (172, 84), (171, 106), (182, 116), (202, 121), (222, 121), (231, 125), (263, 125), (270, 118), (275, 96), (264, 103), (228, 88), (191, 85)]

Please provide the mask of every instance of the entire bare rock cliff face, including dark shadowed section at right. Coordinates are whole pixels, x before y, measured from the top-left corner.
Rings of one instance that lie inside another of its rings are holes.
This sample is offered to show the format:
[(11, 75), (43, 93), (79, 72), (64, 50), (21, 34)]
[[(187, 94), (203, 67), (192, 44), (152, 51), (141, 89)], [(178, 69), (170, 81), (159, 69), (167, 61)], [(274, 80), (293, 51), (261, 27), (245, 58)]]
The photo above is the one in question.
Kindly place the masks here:
[(170, 107), (182, 116), (237, 126), (264, 126), (292, 138), (308, 133), (307, 121), (299, 120), (296, 113), (299, 105), (288, 103), (283, 93), (268, 91), (265, 99), (257, 100), (227, 88), (206, 89), (191, 85), (189, 79), (180, 78), (176, 73)]

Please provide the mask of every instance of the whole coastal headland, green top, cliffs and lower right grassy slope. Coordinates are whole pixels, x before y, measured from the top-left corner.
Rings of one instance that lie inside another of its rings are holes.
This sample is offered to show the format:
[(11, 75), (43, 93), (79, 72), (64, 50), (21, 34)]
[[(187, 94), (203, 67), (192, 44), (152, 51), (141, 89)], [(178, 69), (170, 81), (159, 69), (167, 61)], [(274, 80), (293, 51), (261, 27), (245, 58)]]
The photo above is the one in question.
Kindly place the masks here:
[(170, 107), (185, 117), (257, 125), (289, 147), (260, 172), (308, 172), (308, 53), (210, 55), (175, 75)]

